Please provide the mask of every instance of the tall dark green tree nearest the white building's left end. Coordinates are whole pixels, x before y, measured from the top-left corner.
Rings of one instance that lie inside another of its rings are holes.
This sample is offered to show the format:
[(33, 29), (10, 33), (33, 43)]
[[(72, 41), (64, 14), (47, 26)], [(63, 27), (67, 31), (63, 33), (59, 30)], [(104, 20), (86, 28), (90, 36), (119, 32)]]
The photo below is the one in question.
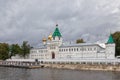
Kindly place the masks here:
[(31, 49), (30, 45), (28, 44), (28, 41), (23, 41), (21, 49), (22, 49), (21, 55), (25, 58), (26, 55), (30, 53), (30, 49)]

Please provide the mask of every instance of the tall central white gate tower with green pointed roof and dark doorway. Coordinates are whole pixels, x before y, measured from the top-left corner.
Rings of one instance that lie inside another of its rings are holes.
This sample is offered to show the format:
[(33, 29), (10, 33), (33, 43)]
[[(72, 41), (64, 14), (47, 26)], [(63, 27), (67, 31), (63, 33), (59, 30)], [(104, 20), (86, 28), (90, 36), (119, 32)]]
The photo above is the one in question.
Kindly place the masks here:
[(59, 31), (58, 24), (53, 32), (48, 36), (47, 50), (50, 59), (57, 59), (59, 56), (59, 46), (62, 45), (62, 35)]

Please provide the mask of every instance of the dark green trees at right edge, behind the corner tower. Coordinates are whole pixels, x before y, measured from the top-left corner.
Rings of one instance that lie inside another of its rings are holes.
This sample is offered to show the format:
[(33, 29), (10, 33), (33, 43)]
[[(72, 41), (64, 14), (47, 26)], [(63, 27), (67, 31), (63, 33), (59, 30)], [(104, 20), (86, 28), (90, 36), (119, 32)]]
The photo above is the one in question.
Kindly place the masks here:
[(120, 31), (113, 33), (112, 36), (116, 44), (115, 56), (117, 56), (120, 55)]

